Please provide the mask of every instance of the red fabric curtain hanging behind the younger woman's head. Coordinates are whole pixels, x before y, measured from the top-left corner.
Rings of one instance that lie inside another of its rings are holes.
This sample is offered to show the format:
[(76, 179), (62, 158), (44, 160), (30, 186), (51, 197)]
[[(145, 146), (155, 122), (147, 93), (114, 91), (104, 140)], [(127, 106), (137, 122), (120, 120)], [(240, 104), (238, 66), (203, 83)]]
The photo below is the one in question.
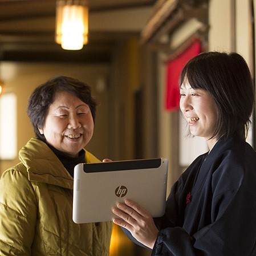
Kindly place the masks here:
[(170, 60), (166, 65), (166, 90), (165, 90), (165, 109), (175, 111), (180, 107), (180, 88), (178, 79), (182, 68), (194, 56), (200, 54), (201, 45), (198, 40), (192, 43), (177, 58)]

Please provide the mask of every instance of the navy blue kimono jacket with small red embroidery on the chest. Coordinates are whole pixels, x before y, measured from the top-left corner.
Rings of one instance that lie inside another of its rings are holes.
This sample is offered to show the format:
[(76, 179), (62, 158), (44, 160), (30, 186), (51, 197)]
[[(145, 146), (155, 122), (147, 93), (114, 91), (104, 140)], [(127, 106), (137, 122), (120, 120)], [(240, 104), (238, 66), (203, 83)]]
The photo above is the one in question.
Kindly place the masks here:
[(152, 256), (256, 255), (256, 153), (219, 140), (173, 185)]

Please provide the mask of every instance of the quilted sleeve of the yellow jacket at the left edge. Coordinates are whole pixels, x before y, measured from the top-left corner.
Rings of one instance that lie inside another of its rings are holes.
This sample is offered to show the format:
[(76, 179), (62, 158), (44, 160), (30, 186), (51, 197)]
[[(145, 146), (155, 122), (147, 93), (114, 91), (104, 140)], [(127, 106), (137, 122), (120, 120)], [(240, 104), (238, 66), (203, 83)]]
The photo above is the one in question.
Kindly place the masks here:
[(16, 169), (0, 179), (0, 255), (30, 255), (36, 222), (36, 197), (31, 183)]

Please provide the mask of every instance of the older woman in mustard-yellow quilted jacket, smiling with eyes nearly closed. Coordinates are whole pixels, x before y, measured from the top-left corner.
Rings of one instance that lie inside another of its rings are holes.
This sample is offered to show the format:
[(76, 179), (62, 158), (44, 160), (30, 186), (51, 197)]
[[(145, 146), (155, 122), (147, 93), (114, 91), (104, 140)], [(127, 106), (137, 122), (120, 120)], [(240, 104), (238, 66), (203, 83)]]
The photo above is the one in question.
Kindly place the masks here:
[(72, 221), (74, 166), (99, 162), (83, 149), (95, 112), (91, 88), (74, 78), (52, 78), (32, 92), (27, 113), (36, 137), (0, 180), (1, 255), (109, 254), (110, 222)]

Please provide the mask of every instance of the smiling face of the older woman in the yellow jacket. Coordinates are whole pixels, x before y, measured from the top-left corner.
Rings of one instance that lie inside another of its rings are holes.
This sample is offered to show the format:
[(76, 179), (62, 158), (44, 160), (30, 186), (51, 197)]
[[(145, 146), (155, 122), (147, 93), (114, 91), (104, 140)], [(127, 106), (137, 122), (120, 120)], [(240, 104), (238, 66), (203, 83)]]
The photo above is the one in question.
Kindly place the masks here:
[(75, 95), (60, 91), (50, 105), (44, 126), (39, 131), (54, 148), (77, 157), (94, 133), (90, 107)]

